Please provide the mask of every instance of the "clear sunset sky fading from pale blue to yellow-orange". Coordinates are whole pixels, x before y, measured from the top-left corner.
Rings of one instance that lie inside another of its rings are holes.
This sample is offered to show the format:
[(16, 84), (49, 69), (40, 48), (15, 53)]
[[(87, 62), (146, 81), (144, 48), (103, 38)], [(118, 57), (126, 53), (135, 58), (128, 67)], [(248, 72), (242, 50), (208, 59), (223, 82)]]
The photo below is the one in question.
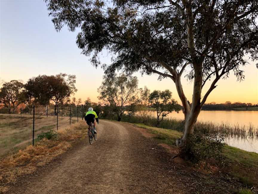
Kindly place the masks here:
[[(56, 32), (48, 16), (43, 0), (0, 0), (0, 79), (4, 81), (22, 80), (38, 75), (57, 75), (60, 72), (76, 75), (78, 92), (75, 97), (85, 101), (90, 98), (98, 102), (97, 88), (101, 85), (104, 71), (90, 64), (89, 57), (81, 54), (76, 45), (79, 32), (70, 32), (66, 27)], [(101, 55), (102, 62), (110, 62), (110, 54)], [(258, 69), (256, 62), (248, 60), (242, 68), (245, 81), (237, 82), (231, 75), (226, 80), (219, 80), (217, 87), (209, 95), (206, 103), (245, 102), (258, 103)], [(147, 86), (151, 91), (172, 91), (173, 98), (179, 101), (176, 87), (169, 78), (158, 81), (158, 75), (141, 76), (139, 87)], [(89, 81), (90, 80), (90, 81)], [(202, 96), (208, 90), (207, 82)], [(191, 102), (193, 83), (182, 77), (184, 92)], [(180, 103), (181, 104), (181, 103)]]

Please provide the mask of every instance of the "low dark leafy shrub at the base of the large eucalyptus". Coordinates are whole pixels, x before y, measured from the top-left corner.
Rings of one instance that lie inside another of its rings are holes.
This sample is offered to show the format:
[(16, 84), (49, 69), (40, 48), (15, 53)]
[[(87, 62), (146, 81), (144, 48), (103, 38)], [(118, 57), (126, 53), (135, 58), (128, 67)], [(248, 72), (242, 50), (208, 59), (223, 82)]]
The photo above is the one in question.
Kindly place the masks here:
[(190, 136), (187, 145), (182, 148), (180, 156), (193, 163), (199, 163), (209, 158), (219, 159), (223, 164), (222, 148), (224, 137), (216, 131), (209, 132), (199, 128)]

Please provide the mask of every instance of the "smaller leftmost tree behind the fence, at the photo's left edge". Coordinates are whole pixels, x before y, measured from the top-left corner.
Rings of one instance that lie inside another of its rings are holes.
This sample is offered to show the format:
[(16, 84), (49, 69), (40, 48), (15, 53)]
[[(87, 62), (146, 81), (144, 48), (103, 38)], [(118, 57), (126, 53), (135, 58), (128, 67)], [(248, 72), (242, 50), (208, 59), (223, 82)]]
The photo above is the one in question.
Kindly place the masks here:
[(9, 109), (9, 113), (14, 113), (15, 108), (22, 103), (22, 89), (24, 85), (17, 80), (6, 82), (0, 90), (0, 103), (4, 104)]

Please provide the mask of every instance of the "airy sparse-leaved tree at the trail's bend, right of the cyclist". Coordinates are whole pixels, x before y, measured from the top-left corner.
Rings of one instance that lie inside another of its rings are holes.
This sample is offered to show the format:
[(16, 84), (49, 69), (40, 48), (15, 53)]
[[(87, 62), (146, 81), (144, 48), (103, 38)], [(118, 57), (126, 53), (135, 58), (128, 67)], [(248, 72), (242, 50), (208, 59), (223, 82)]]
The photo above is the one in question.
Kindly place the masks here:
[(121, 121), (126, 106), (132, 106), (139, 101), (137, 77), (121, 74), (114, 78), (105, 77), (102, 85), (98, 88), (99, 100), (109, 104)]

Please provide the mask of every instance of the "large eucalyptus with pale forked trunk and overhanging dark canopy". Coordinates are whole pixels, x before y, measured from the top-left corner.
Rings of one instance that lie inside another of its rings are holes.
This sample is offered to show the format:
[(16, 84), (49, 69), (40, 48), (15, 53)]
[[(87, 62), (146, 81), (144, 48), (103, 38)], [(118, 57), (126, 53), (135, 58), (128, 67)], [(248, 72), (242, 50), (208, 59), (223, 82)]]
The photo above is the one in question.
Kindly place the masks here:
[[(80, 28), (76, 43), (82, 54), (101, 65), (98, 54), (114, 54), (102, 64), (116, 70), (171, 78), (185, 115), (184, 146), (202, 105), (221, 78), (232, 72), (244, 79), (244, 56), (257, 60), (258, 1), (255, 0), (45, 0), (57, 31)], [(257, 64), (258, 67), (258, 64)], [(193, 81), (191, 104), (181, 78)], [(211, 80), (211, 82), (208, 82)], [(203, 87), (208, 84), (208, 90)]]

